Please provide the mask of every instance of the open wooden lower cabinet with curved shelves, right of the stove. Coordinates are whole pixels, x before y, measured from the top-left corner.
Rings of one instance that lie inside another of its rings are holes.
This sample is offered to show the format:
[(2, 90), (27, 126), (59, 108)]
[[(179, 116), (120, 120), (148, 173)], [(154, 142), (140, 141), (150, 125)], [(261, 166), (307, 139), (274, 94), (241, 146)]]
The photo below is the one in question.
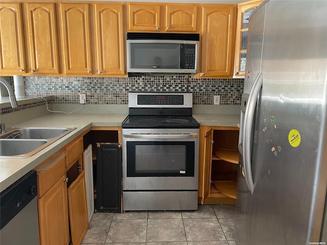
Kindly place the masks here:
[(235, 204), (238, 172), (237, 127), (200, 127), (199, 204)]

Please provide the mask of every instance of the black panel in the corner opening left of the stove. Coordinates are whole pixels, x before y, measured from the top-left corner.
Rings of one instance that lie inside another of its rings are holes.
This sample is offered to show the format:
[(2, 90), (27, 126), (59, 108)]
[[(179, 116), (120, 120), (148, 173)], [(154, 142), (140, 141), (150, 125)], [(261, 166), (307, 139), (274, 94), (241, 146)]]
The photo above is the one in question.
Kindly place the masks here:
[(121, 212), (122, 148), (119, 143), (97, 143), (97, 211)]

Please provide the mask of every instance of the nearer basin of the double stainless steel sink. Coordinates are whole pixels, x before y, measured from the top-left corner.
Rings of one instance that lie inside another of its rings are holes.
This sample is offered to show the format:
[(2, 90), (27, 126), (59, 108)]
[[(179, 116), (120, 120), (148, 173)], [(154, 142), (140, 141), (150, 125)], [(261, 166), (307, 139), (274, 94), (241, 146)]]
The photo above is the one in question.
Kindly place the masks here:
[(44, 139), (0, 139), (0, 156), (28, 157), (26, 154), (35, 151), (47, 142), (48, 140)]

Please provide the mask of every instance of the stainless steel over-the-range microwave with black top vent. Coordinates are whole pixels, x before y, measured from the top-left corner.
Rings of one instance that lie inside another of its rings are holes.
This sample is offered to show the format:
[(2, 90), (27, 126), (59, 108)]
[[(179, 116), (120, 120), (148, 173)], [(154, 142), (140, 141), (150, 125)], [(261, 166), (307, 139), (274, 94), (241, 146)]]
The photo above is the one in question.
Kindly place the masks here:
[(129, 73), (195, 74), (198, 71), (199, 34), (128, 32), (126, 37)]

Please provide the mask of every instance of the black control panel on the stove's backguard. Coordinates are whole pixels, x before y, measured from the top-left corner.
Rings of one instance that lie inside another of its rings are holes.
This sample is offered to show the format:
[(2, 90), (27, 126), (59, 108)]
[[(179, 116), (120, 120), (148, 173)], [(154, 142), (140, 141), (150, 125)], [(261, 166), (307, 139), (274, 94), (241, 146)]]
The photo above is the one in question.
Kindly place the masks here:
[(184, 96), (183, 95), (138, 95), (137, 96), (138, 105), (183, 105)]

